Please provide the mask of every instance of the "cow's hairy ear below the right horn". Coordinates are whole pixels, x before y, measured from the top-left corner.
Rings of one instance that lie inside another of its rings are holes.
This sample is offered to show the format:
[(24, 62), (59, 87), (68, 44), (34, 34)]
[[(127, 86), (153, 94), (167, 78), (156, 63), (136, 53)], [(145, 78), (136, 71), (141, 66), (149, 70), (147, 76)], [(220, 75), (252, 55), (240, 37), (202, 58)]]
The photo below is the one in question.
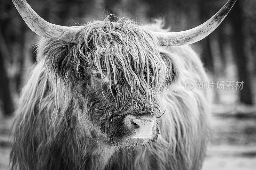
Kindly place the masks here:
[(160, 55), (168, 67), (167, 83), (169, 85), (176, 83), (180, 77), (180, 64), (177, 56), (169, 52), (160, 52)]

